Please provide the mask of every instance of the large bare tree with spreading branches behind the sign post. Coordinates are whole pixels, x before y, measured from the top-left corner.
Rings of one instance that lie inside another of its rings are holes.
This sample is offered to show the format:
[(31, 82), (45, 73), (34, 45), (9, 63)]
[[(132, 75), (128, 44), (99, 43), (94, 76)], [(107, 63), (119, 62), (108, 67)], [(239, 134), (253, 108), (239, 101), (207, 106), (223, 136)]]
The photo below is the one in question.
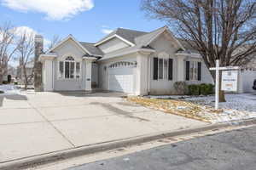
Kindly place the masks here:
[(166, 21), (208, 68), (216, 59), (221, 66), (245, 64), (256, 51), (255, 0), (143, 0), (142, 7), (149, 17)]

